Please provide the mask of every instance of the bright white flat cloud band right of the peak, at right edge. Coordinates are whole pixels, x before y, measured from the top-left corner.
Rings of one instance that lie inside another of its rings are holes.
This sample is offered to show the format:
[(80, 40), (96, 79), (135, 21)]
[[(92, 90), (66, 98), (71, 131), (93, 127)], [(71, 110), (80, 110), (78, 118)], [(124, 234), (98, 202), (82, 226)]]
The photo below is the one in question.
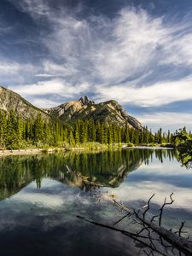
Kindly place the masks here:
[(148, 86), (134, 85), (99, 86), (98, 97), (114, 98), (119, 102), (139, 107), (157, 107), (168, 103), (192, 100), (192, 76), (177, 81), (164, 81)]

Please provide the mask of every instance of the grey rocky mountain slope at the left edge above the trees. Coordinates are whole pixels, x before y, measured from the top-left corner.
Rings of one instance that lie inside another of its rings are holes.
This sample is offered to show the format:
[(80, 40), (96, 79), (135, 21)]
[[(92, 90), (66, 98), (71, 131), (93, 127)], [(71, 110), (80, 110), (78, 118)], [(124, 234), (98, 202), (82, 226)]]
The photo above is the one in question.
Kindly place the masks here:
[(13, 90), (0, 86), (0, 109), (9, 113), (12, 109), (24, 119), (35, 118), (41, 113), (44, 119), (49, 119), (49, 114), (42, 109), (33, 106)]

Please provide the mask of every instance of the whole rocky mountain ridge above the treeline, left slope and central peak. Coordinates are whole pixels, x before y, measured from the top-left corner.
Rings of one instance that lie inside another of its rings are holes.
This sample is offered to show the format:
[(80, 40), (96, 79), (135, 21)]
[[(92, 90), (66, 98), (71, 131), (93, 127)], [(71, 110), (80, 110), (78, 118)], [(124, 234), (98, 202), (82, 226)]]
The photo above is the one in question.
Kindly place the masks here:
[(23, 119), (36, 118), (40, 113), (44, 119), (58, 119), (69, 124), (77, 119), (94, 119), (119, 126), (127, 124), (131, 128), (143, 130), (143, 125), (127, 113), (119, 102), (109, 100), (95, 103), (88, 96), (81, 96), (78, 101), (65, 102), (54, 108), (37, 108), (13, 90), (0, 86), (0, 109), (7, 113), (13, 110)]

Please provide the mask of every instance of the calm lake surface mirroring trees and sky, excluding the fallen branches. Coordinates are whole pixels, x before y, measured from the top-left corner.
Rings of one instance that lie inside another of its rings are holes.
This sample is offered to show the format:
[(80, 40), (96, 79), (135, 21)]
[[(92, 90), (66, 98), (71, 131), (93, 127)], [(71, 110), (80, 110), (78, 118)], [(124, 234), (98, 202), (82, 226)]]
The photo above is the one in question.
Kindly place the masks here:
[[(149, 215), (173, 192), (163, 225), (178, 230), (185, 220), (192, 236), (192, 169), (181, 166), (173, 150), (11, 156), (0, 159), (0, 255), (146, 255), (130, 237), (76, 218), (118, 220), (110, 201), (98, 202), (99, 191), (135, 208), (155, 193)], [(135, 229), (125, 221), (121, 228)]]

